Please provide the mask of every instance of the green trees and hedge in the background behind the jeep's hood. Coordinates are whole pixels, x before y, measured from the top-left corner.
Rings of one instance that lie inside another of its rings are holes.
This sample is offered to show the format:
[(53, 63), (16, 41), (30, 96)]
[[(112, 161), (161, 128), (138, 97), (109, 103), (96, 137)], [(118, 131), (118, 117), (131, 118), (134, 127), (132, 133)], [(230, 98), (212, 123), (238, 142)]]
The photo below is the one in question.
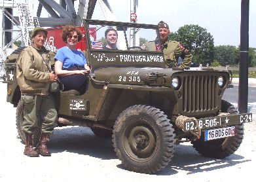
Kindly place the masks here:
[[(179, 41), (192, 52), (194, 64), (211, 66), (238, 66), (240, 62), (240, 46), (214, 46), (213, 36), (198, 25), (185, 25), (173, 33), (168, 39)], [(249, 67), (256, 67), (256, 48), (249, 48)]]

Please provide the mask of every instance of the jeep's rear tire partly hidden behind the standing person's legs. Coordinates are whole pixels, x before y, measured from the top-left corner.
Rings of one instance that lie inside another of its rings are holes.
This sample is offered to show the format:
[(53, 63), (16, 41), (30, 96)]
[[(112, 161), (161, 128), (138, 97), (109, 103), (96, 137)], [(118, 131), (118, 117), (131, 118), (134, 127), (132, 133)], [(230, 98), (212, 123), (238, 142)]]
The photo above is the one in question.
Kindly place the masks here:
[[(19, 101), (16, 108), (16, 127), (18, 129), (18, 134), (20, 136), (20, 139), (22, 140), (22, 143), (26, 143), (25, 134), (22, 131), (22, 123), (24, 122), (23, 110), (24, 110), (24, 105), (22, 101)], [(41, 124), (39, 124), (39, 130), (37, 130), (35, 134), (33, 134), (34, 146), (37, 146), (37, 144), (39, 143), (40, 136), (41, 136)]]

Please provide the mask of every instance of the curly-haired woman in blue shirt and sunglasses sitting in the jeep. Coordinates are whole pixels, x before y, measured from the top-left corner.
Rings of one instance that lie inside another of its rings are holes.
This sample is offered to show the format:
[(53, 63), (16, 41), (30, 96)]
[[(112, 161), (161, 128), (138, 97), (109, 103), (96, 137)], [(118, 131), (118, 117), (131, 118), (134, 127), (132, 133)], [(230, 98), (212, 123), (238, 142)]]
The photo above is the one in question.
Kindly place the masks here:
[(77, 90), (81, 94), (86, 92), (90, 67), (87, 65), (84, 54), (75, 48), (82, 39), (80, 29), (74, 26), (65, 26), (62, 31), (62, 40), (67, 44), (57, 51), (54, 59), (54, 71), (60, 82), (64, 84), (64, 91)]

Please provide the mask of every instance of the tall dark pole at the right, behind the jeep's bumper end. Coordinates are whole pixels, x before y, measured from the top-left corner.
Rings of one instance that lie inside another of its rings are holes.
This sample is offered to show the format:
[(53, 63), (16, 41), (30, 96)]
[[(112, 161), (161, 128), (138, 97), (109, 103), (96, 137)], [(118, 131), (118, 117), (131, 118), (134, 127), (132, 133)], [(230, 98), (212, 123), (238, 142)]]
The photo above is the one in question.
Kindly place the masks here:
[(248, 104), (248, 52), (249, 52), (249, 0), (241, 1), (240, 66), (238, 110), (247, 113)]

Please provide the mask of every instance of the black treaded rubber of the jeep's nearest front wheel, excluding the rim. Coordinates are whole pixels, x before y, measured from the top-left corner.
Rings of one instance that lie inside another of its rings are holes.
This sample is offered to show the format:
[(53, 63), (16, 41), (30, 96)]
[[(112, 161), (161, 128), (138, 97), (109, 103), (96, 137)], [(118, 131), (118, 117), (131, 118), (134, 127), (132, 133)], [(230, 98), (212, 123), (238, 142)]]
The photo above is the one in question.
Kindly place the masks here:
[[(119, 146), (117, 146), (117, 132), (120, 129), (120, 125), (122, 124), (123, 120), (125, 120), (126, 117), (129, 117), (134, 112), (137, 113), (147, 113), (147, 115), (150, 115), (156, 120), (156, 123), (158, 126), (162, 128), (163, 138), (164, 141), (164, 152), (162, 153), (162, 156), (160, 157), (160, 160), (156, 162), (153, 166), (143, 166), (142, 164), (137, 164), (136, 166), (132, 166), (129, 162), (126, 161), (126, 158), (122, 155), (120, 152)], [(170, 120), (167, 118), (167, 116), (160, 111), (159, 109), (156, 109), (155, 107), (151, 107), (149, 105), (133, 105), (131, 107), (128, 107), (128, 109), (124, 110), (119, 117), (117, 118), (114, 130), (113, 130), (113, 147), (115, 149), (115, 152), (119, 159), (122, 161), (122, 164), (124, 164), (124, 167), (128, 170), (139, 172), (139, 173), (155, 173), (164, 168), (168, 165), (168, 163), (172, 160), (172, 157), (174, 156), (174, 145), (175, 145), (175, 133), (174, 128), (172, 124), (170, 123)]]

